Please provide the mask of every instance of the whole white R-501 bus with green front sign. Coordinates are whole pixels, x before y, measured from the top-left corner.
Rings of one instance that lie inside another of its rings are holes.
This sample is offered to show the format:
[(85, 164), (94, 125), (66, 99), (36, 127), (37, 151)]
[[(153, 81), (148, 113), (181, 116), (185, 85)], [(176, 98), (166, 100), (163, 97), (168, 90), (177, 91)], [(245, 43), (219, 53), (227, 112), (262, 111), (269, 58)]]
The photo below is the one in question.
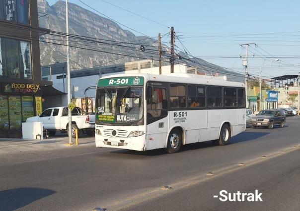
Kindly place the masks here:
[(246, 128), (245, 85), (193, 74), (121, 74), (99, 79), (96, 147), (136, 151), (229, 143)]

